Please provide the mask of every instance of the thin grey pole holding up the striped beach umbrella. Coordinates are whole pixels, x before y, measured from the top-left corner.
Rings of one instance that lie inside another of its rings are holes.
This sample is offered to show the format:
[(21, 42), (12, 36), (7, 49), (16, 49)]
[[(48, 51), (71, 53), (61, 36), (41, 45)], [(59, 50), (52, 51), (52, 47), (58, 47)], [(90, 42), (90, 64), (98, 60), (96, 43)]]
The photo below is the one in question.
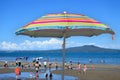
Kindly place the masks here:
[(64, 70), (65, 70), (65, 43), (66, 43), (66, 34), (64, 33), (64, 36), (63, 36), (63, 53), (62, 53), (62, 57), (63, 57), (63, 60), (62, 60), (62, 80), (64, 80)]

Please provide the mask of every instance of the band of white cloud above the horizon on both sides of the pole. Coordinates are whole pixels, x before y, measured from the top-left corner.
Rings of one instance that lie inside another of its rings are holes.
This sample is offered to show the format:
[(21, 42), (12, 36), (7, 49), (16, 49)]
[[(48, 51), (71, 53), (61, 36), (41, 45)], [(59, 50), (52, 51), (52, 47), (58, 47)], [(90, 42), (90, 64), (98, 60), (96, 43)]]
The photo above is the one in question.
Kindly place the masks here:
[[(0, 43), (0, 50), (53, 50), (53, 49), (62, 49), (62, 40), (51, 38), (49, 40), (45, 41), (29, 41), (25, 40), (22, 43), (12, 43), (12, 42), (6, 42), (3, 41)], [(119, 45), (100, 45), (96, 43), (78, 43), (74, 41), (67, 41), (66, 42), (66, 48), (69, 47), (76, 47), (76, 46), (83, 46), (83, 45), (96, 45), (98, 47), (104, 47), (104, 48), (118, 48), (120, 49)]]

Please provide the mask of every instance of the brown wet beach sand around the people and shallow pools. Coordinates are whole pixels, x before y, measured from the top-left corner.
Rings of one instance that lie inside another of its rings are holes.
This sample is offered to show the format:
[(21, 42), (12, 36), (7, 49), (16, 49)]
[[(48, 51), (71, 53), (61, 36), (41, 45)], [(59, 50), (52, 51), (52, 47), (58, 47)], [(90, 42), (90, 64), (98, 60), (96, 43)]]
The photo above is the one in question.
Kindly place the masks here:
[[(28, 62), (24, 62), (23, 64), (28, 64)], [(32, 63), (29, 63), (32, 67)], [(9, 62), (9, 67), (4, 68), (3, 67), (4, 62), (0, 62), (0, 75), (6, 74), (6, 73), (14, 73), (14, 67), (15, 62)], [(67, 69), (65, 67), (65, 75), (66, 76), (73, 76), (76, 77), (75, 80), (120, 80), (120, 65), (107, 65), (107, 64), (94, 64), (94, 69), (92, 68), (93, 64), (87, 64), (87, 71), (86, 76), (83, 74), (83, 64), (81, 65), (81, 73), (78, 72), (77, 66), (78, 64), (72, 64), (73, 69)], [(12, 67), (13, 66), (13, 67)], [(58, 67), (61, 68), (61, 64), (58, 64)], [(54, 63), (52, 64), (51, 68), (55, 68)], [(21, 73), (23, 72), (33, 72), (33, 68), (24, 68), (21, 70)], [(52, 70), (53, 76), (54, 74), (61, 75), (62, 71), (61, 69), (58, 70)], [(7, 78), (1, 78), (0, 80), (14, 80), (14, 77)], [(26, 80), (35, 80), (35, 78), (26, 78)], [(41, 79), (40, 79), (41, 80)], [(45, 80), (45, 79), (43, 79)], [(59, 79), (58, 79), (59, 80)]]

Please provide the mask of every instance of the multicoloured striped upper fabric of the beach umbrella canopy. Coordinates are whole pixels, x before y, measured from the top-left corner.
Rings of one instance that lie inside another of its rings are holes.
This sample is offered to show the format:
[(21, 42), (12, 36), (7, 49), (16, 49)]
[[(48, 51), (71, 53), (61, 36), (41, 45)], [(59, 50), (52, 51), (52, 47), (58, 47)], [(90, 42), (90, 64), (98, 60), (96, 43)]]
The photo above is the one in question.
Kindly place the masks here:
[(105, 24), (98, 22), (92, 18), (89, 18), (82, 14), (48, 14), (43, 16), (26, 26), (24, 29), (34, 30), (37, 29), (60, 29), (68, 27), (70, 29), (74, 28), (108, 28)]

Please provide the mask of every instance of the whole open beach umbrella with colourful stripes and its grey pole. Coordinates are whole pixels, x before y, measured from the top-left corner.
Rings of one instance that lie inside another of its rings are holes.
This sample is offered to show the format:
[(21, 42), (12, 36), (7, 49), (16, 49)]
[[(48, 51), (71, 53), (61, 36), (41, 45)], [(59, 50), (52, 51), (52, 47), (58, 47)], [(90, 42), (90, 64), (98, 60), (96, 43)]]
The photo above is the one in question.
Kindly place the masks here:
[(58, 14), (47, 14), (30, 22), (16, 31), (16, 35), (27, 35), (30, 37), (57, 37), (63, 38), (63, 75), (65, 62), (65, 43), (70, 36), (97, 36), (103, 33), (114, 35), (114, 32), (105, 24), (83, 14), (69, 14), (67, 12)]

